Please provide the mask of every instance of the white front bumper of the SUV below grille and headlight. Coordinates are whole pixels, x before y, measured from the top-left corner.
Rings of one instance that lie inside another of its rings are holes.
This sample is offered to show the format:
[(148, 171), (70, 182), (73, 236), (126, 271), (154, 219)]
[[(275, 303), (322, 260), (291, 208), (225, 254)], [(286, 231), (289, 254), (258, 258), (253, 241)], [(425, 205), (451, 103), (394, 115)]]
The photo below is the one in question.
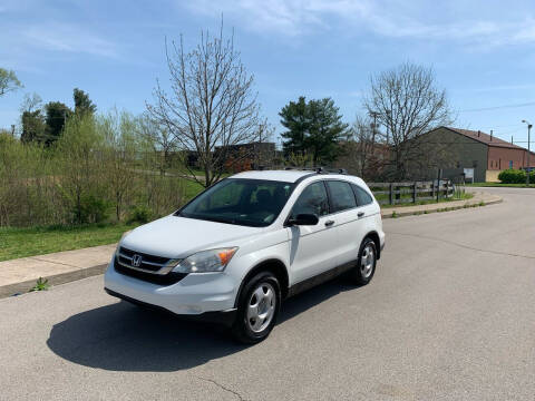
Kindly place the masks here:
[(225, 273), (188, 274), (172, 285), (158, 285), (118, 273), (110, 263), (104, 275), (105, 290), (134, 303), (167, 310), (179, 315), (230, 312), (237, 286)]

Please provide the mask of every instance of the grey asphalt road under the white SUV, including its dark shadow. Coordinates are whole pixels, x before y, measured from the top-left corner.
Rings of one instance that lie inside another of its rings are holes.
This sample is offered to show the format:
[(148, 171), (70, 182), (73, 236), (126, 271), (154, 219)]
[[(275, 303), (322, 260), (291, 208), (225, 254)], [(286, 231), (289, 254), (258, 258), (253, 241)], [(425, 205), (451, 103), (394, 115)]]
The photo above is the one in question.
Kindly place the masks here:
[(284, 305), (272, 335), (118, 302), (96, 276), (0, 300), (2, 400), (534, 400), (535, 190), (385, 222), (372, 283)]

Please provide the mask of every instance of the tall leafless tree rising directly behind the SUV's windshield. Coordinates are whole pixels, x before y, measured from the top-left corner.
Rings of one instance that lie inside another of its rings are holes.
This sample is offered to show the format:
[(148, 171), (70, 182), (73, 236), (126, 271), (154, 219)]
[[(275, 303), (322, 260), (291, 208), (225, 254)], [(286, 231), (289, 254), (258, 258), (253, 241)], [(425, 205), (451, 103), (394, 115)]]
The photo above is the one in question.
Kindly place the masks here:
[(179, 43), (166, 42), (171, 94), (159, 81), (155, 104), (147, 105), (150, 116), (174, 135), (184, 150), (193, 151), (204, 173), (204, 180), (186, 164), (188, 178), (210, 186), (224, 170), (232, 147), (252, 143), (259, 134), (259, 105), (253, 92), (253, 76), (240, 60), (233, 37), (210, 37), (186, 52)]

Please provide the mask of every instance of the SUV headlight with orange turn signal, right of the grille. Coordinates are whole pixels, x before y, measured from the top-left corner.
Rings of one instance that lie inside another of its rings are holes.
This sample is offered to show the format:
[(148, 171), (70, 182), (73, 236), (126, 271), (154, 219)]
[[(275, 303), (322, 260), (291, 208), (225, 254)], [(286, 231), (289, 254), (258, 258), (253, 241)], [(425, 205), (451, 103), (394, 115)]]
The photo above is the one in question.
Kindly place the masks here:
[(177, 273), (223, 272), (237, 247), (201, 251), (181, 261), (173, 268)]

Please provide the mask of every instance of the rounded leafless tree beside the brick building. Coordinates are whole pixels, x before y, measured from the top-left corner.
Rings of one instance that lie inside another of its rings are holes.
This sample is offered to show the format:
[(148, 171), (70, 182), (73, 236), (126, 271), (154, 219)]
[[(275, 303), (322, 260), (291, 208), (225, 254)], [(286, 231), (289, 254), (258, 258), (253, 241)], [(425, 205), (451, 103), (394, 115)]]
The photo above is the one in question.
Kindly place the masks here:
[[(420, 137), (431, 129), (451, 123), (446, 91), (438, 89), (432, 69), (405, 63), (371, 78), (364, 107), (374, 115), (390, 135), (392, 178), (409, 178), (418, 168), (432, 167), (426, 153), (438, 146), (422, 146)], [(431, 165), (424, 167), (427, 160)]]

